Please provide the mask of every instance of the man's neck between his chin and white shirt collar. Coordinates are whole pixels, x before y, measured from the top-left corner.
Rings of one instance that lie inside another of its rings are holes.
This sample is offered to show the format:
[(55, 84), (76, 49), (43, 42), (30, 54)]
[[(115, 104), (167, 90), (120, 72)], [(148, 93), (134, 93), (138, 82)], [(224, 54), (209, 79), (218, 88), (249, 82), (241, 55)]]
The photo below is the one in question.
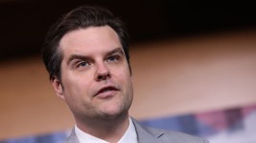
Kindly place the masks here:
[(128, 114), (117, 118), (97, 119), (79, 122), (78, 128), (107, 142), (117, 142), (128, 130)]

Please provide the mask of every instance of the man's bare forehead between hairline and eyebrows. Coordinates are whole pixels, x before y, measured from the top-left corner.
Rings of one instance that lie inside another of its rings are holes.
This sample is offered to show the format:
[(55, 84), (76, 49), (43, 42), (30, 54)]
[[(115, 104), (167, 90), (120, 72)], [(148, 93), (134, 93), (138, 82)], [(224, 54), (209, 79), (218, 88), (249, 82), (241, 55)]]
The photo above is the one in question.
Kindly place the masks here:
[(118, 34), (108, 26), (70, 31), (59, 41), (59, 49), (64, 56), (69, 53), (110, 51), (121, 47)]

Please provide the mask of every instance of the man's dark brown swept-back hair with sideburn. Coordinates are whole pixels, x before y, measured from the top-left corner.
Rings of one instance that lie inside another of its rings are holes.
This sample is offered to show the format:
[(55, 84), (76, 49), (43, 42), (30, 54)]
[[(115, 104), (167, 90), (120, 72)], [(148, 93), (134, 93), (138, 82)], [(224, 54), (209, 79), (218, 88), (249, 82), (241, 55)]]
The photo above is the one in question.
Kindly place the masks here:
[[(42, 48), (42, 58), (50, 79), (57, 77), (61, 81), (60, 64), (63, 58), (59, 51), (59, 41), (66, 33), (89, 27), (109, 26), (119, 36), (119, 40), (125, 51), (128, 65), (128, 31), (123, 22), (115, 17), (111, 11), (101, 7), (83, 6), (61, 17), (48, 31)], [(130, 67), (129, 67), (130, 71)]]

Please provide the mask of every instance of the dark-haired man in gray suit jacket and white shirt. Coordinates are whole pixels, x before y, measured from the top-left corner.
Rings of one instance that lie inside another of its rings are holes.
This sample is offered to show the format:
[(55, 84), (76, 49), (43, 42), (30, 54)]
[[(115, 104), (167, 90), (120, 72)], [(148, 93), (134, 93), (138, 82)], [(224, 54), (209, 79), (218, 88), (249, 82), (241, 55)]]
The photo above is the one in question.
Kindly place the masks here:
[(128, 32), (109, 10), (83, 6), (64, 15), (48, 32), (42, 57), (55, 92), (75, 117), (67, 143), (207, 142), (142, 127), (128, 115)]

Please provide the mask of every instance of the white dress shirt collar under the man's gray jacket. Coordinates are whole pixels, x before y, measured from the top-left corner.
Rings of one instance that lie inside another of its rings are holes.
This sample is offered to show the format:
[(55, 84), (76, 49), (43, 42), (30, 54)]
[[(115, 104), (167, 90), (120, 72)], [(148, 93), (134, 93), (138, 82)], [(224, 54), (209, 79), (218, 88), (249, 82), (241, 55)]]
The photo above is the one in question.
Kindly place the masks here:
[[(135, 127), (130, 118), (128, 121), (128, 130), (117, 143), (138, 143)], [(75, 133), (81, 143), (108, 143), (101, 138), (82, 132), (77, 125), (75, 126)]]

